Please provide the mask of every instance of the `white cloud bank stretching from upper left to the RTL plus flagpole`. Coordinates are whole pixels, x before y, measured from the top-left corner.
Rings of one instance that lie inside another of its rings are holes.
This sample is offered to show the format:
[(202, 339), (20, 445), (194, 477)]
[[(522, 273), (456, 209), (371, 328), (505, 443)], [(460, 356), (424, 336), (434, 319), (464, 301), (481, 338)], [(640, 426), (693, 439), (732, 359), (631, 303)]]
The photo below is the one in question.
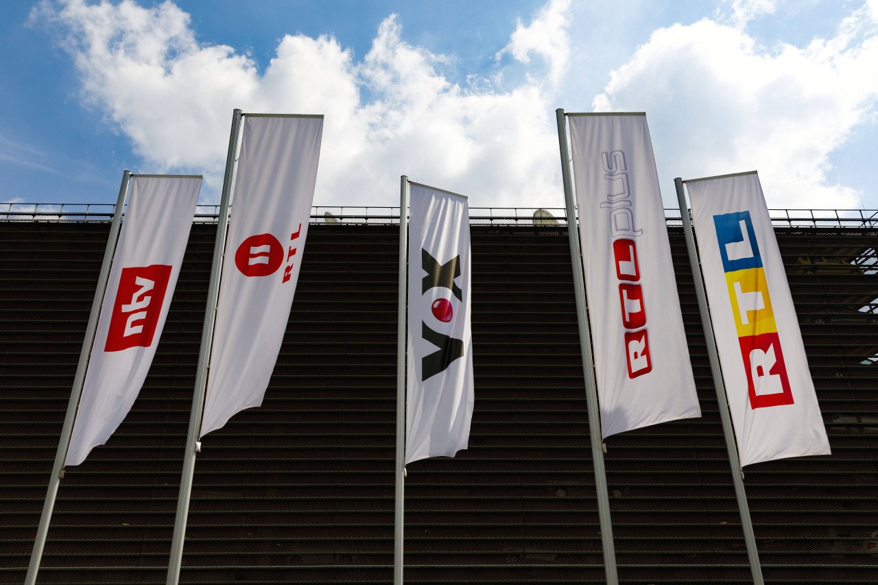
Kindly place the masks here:
[(558, 207), (557, 136), (543, 84), (565, 64), (558, 18), (567, 4), (553, 2), (519, 25), (509, 50), (525, 61), (539, 54), (549, 71), (535, 67), (504, 92), (481, 78), (450, 82), (439, 72), (449, 58), (402, 40), (395, 16), (362, 61), (332, 37), (287, 35), (263, 72), (231, 47), (199, 44), (189, 16), (169, 2), (44, 2), (34, 18), (65, 32), (83, 96), (130, 138), (142, 171), (203, 172), (211, 199), (240, 108), (326, 114), (316, 205), (398, 205), (406, 174), (470, 195), (472, 206)]

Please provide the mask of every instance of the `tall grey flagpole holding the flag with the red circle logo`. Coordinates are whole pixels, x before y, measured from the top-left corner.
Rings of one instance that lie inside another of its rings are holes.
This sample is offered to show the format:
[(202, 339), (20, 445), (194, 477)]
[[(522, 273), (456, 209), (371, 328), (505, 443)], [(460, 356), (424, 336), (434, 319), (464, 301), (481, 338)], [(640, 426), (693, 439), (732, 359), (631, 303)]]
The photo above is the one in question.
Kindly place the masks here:
[(210, 363), (211, 345), (213, 342), (213, 321), (216, 318), (217, 298), (219, 296), (219, 277), (222, 272), (223, 253), (226, 247), (228, 230), (228, 204), (231, 199), (232, 178), (234, 176), (235, 155), (238, 151), (238, 137), (241, 134), (241, 110), (232, 114), (232, 133), (228, 139), (228, 155), (226, 158), (226, 175), (223, 178), (222, 198), (219, 202), (217, 218), (217, 235), (213, 245), (213, 261), (211, 264), (211, 282), (207, 290), (207, 307), (205, 308), (205, 324), (201, 332), (201, 349), (198, 353), (198, 372), (195, 379), (195, 391), (192, 394), (192, 409), (189, 416), (189, 433), (186, 438), (186, 450), (183, 459), (183, 474), (180, 478), (180, 494), (176, 502), (174, 535), (171, 538), (170, 559), (168, 561), (167, 585), (176, 585), (180, 578), (180, 566), (183, 561), (183, 544), (186, 535), (186, 520), (189, 517), (189, 500), (192, 493), (192, 477), (195, 475), (195, 454), (200, 451), (198, 431), (201, 429), (201, 416), (205, 408), (205, 388), (207, 386), (207, 366)]

